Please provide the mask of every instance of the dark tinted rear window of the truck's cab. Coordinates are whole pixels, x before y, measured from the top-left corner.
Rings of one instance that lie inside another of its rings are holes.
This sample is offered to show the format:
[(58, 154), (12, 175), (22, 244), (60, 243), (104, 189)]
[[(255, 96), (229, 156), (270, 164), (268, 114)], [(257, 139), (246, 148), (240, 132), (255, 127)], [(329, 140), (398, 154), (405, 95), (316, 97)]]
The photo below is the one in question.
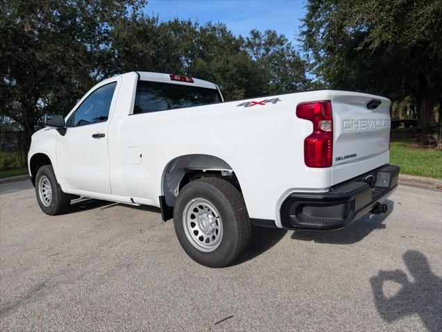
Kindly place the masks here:
[(133, 114), (219, 103), (218, 91), (160, 82), (139, 81)]

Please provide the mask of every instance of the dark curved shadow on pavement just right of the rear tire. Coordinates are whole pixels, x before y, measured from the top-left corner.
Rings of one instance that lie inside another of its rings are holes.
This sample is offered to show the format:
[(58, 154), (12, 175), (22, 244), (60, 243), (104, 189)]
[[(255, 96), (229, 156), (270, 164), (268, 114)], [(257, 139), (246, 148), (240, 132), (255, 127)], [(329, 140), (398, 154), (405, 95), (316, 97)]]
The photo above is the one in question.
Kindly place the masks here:
[(279, 228), (252, 227), (250, 242), (246, 250), (233, 262), (233, 265), (239, 265), (254, 259), (256, 256), (269, 250), (278, 243), (287, 231)]

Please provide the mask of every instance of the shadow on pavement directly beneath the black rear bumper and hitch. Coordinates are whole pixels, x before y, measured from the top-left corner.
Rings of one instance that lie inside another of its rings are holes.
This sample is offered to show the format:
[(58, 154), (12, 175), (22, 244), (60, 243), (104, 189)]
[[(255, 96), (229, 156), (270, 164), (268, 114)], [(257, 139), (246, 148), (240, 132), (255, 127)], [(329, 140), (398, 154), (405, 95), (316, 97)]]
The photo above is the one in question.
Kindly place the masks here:
[(336, 231), (306, 231), (296, 230), (291, 238), (294, 240), (314, 241), (316, 243), (331, 243), (336, 245), (350, 245), (357, 243), (368, 236), (375, 229), (384, 229), (386, 225), (383, 223), (386, 218), (393, 212), (394, 204), (391, 200), (386, 200), (388, 204), (388, 212), (368, 218), (364, 216), (343, 229)]

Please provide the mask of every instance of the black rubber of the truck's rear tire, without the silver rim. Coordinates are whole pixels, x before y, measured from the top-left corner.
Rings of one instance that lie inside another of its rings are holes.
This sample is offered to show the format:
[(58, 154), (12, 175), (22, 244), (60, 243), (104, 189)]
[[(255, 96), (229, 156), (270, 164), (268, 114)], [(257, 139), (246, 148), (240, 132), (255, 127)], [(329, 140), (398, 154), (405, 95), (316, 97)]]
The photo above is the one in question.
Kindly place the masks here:
[[(195, 198), (212, 203), (221, 217), (221, 240), (212, 252), (198, 250), (185, 233), (185, 207)], [(181, 189), (173, 209), (173, 224), (185, 252), (197, 263), (210, 268), (230, 265), (244, 251), (250, 238), (250, 220), (243, 196), (235, 186), (219, 177), (194, 180)]]

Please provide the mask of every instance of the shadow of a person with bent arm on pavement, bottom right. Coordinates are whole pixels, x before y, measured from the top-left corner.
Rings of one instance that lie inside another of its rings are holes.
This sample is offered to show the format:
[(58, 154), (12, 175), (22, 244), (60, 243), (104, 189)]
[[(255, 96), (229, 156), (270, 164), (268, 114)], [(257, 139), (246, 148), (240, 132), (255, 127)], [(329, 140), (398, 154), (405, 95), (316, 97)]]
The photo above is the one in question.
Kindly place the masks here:
[[(414, 282), (402, 270), (380, 270), (370, 278), (377, 312), (386, 322), (418, 314), (428, 331), (442, 331), (442, 279), (432, 272), (421, 252), (407, 250), (402, 259)], [(386, 297), (382, 289), (385, 281), (399, 283), (402, 288)]]

